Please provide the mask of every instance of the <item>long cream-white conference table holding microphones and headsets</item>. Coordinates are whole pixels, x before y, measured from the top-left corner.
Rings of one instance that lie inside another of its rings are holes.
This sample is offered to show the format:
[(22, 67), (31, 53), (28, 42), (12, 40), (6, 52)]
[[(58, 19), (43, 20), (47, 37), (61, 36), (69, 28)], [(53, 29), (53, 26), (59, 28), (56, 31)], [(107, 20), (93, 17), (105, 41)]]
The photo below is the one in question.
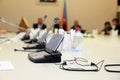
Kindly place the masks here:
[(120, 80), (119, 73), (104, 70), (105, 64), (120, 63), (120, 37), (96, 35), (84, 38), (80, 53), (62, 51), (62, 60), (82, 57), (94, 63), (105, 60), (99, 72), (75, 72), (59, 69), (54, 63), (33, 63), (28, 59), (30, 52), (15, 52), (26, 46), (22, 41), (10, 41), (0, 45), (0, 61), (10, 61), (13, 70), (0, 71), (0, 80)]

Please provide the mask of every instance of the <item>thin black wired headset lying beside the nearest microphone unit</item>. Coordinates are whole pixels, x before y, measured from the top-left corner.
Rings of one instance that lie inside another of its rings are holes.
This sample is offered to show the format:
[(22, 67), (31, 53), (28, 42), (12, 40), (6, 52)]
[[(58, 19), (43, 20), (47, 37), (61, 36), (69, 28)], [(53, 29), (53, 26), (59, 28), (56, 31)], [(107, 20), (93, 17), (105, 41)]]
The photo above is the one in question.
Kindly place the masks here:
[[(86, 62), (88, 64), (81, 64), (78, 61)], [(65, 68), (65, 66), (68, 65), (67, 62), (69, 62), (70, 64), (77, 64), (77, 65), (80, 65), (82, 67), (86, 67), (86, 66), (88, 66), (88, 67), (95, 67), (95, 69), (72, 68), (72, 67)], [(100, 65), (100, 67), (98, 67), (98, 65), (100, 63), (101, 63), (101, 65)], [(66, 70), (66, 71), (98, 72), (98, 71), (100, 71), (103, 63), (104, 63), (104, 60), (98, 62), (97, 64), (95, 64), (93, 62), (91, 62), (89, 64), (89, 61), (87, 59), (84, 59), (84, 58), (74, 58), (73, 60), (66, 60), (66, 61), (63, 61), (63, 63), (56, 64), (56, 65), (60, 65), (60, 69)]]

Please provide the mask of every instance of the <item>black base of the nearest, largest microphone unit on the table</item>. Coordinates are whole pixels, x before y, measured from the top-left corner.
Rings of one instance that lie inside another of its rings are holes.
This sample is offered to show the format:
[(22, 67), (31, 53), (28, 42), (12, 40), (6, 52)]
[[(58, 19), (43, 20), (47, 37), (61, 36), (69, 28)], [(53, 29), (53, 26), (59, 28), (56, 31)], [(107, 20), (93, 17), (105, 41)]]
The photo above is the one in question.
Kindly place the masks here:
[(60, 52), (31, 53), (31, 54), (28, 54), (28, 58), (33, 63), (59, 63), (61, 62), (61, 53)]

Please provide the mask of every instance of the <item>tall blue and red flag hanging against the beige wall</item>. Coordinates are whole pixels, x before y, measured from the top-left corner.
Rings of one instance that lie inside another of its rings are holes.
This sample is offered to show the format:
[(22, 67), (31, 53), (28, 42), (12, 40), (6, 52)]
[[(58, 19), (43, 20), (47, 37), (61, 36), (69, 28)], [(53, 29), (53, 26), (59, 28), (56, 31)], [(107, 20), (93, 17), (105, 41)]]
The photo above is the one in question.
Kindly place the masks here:
[(64, 8), (63, 8), (63, 13), (62, 13), (62, 19), (63, 19), (63, 24), (64, 24), (64, 30), (68, 31), (66, 0), (64, 0)]

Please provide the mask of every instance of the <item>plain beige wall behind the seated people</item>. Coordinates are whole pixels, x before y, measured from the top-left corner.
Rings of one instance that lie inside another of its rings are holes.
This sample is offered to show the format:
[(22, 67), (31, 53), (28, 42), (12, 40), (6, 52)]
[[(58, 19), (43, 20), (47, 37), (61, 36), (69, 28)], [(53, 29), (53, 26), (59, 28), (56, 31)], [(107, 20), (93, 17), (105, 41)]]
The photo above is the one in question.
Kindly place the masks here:
[[(68, 23), (78, 19), (80, 24), (91, 31), (101, 29), (105, 21), (111, 21), (116, 17), (117, 0), (66, 0), (68, 8)], [(0, 0), (0, 16), (19, 24), (22, 16), (25, 16), (30, 26), (38, 17), (48, 15), (47, 26), (51, 26), (55, 17), (61, 17), (63, 0), (58, 0), (55, 5), (36, 4), (36, 0)], [(15, 28), (0, 23), (0, 27), (7, 27), (13, 31)]]

